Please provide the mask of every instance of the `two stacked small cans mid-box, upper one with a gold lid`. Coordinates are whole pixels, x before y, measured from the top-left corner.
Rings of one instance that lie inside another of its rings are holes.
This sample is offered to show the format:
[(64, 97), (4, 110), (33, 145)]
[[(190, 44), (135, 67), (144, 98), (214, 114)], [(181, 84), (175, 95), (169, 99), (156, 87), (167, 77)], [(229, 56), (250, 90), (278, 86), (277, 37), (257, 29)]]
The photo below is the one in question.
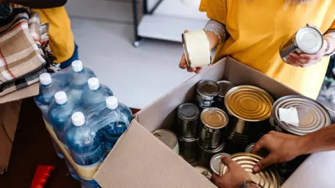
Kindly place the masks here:
[(198, 164), (209, 169), (211, 157), (225, 148), (223, 135), (229, 118), (222, 109), (211, 107), (202, 111), (200, 120)]

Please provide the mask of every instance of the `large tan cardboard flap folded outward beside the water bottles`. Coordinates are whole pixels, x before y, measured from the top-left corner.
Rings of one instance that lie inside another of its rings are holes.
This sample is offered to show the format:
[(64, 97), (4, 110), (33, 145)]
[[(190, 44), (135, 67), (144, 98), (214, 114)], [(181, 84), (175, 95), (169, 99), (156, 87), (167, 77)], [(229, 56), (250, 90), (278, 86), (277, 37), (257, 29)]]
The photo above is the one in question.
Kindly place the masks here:
[(184, 159), (133, 120), (100, 166), (101, 187), (215, 187)]

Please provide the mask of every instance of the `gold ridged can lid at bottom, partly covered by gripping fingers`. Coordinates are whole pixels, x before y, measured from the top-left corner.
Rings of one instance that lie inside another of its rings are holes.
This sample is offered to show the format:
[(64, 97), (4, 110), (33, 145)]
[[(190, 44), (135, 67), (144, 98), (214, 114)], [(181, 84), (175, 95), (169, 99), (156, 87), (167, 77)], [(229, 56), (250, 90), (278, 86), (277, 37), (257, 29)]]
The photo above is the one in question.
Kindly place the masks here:
[[(253, 173), (253, 166), (259, 162), (262, 157), (251, 153), (241, 152), (231, 155), (230, 158), (237, 162), (245, 171), (247, 171), (253, 182), (263, 188), (278, 188), (281, 186), (281, 179), (278, 171), (273, 166), (261, 171), (260, 173)], [(223, 165), (220, 175), (227, 173), (228, 167)]]

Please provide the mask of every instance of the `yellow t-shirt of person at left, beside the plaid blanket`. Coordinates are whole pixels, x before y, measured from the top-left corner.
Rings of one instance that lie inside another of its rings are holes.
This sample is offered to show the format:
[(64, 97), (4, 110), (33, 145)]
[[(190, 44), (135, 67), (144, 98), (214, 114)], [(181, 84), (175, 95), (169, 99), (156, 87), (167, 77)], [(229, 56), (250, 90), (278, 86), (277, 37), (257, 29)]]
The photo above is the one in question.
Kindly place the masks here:
[(40, 14), (40, 22), (50, 23), (49, 36), (52, 54), (56, 63), (67, 61), (75, 51), (75, 39), (70, 26), (70, 18), (64, 7), (33, 9)]

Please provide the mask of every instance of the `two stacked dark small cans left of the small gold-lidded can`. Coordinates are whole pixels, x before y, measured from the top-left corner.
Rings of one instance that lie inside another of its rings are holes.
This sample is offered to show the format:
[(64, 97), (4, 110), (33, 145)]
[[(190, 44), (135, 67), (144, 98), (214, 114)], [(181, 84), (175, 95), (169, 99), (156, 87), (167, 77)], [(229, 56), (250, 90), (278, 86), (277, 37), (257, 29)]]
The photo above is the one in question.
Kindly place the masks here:
[(178, 107), (177, 116), (180, 154), (186, 162), (196, 162), (200, 111), (195, 104), (185, 103)]

